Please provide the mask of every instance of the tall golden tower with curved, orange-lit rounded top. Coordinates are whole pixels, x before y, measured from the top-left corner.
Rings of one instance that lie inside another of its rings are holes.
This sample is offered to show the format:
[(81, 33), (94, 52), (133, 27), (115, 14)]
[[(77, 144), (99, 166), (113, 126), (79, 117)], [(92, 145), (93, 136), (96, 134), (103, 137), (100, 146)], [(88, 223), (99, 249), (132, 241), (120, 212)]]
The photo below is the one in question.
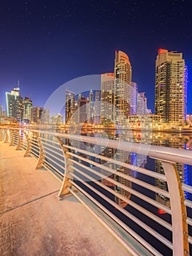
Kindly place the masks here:
[(126, 126), (126, 119), (131, 113), (131, 63), (126, 53), (115, 51), (115, 122), (120, 127)]

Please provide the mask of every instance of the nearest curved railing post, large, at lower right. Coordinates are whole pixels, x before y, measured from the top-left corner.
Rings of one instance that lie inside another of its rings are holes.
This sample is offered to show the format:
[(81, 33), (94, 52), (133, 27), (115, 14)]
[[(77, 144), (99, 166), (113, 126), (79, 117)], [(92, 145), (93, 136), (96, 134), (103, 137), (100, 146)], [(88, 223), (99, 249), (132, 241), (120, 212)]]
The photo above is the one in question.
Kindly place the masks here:
[(166, 181), (170, 195), (170, 205), (172, 211), (172, 243), (173, 255), (189, 255), (188, 246), (188, 224), (187, 210), (184, 204), (185, 195), (177, 173), (177, 167), (174, 162), (162, 161)]

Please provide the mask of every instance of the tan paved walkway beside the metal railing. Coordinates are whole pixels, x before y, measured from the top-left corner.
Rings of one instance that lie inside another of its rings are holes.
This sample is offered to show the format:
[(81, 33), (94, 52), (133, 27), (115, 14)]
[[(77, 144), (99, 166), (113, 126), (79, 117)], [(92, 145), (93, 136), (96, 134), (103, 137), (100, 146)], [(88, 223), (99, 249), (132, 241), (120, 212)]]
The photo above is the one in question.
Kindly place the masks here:
[(37, 160), (0, 142), (0, 255), (129, 255)]

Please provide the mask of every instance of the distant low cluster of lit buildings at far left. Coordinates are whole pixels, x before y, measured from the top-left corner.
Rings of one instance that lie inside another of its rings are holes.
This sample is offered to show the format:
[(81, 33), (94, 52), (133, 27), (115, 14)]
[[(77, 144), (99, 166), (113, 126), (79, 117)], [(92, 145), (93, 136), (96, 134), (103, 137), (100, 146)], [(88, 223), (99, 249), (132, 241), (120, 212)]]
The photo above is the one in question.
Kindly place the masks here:
[(63, 116), (61, 114), (51, 116), (50, 110), (42, 107), (33, 107), (33, 102), (29, 97), (20, 95), (19, 86), (6, 92), (7, 111), (3, 111), (0, 105), (1, 118), (15, 118), (22, 124), (62, 124)]

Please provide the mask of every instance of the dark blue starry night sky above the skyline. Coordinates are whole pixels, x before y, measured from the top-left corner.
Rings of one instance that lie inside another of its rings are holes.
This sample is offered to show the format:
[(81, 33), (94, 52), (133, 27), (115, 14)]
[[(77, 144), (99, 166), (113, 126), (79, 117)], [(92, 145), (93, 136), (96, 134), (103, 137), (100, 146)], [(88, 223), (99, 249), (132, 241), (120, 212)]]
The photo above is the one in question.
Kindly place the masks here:
[(69, 80), (113, 72), (123, 50), (154, 110), (155, 58), (165, 48), (183, 52), (192, 113), (191, 10), (191, 0), (1, 1), (0, 104), (19, 78), (22, 96), (44, 106)]

